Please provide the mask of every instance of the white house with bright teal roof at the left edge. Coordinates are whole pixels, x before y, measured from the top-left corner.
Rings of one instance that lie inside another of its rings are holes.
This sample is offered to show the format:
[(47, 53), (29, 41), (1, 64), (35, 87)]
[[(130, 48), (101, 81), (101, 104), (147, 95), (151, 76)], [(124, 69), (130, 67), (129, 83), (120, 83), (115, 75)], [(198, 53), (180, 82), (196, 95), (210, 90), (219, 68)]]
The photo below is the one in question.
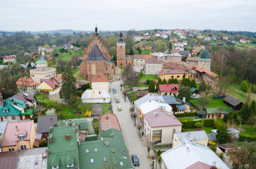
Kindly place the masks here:
[(20, 121), (31, 118), (31, 114), (25, 114), (27, 106), (24, 104), (25, 101), (18, 98), (11, 98), (7, 101), (4, 100), (3, 103), (0, 104), (1, 121)]

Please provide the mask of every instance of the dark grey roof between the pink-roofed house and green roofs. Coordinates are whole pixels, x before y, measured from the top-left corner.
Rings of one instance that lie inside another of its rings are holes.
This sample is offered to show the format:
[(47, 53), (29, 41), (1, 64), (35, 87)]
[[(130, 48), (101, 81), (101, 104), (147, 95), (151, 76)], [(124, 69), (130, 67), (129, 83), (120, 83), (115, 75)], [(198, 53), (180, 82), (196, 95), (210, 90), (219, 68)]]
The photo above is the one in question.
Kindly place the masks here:
[[(52, 117), (52, 119), (51, 119), (51, 117)], [(38, 116), (36, 133), (49, 132), (49, 128), (53, 127), (53, 125), (55, 123), (57, 123), (57, 121), (58, 121), (58, 116), (57, 115)]]

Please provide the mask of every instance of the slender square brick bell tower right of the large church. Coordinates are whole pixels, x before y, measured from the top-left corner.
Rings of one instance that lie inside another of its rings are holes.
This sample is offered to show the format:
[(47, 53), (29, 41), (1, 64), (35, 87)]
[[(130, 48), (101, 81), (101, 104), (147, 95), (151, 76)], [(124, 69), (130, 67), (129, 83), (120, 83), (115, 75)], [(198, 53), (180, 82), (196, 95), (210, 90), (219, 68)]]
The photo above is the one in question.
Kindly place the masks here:
[(116, 43), (116, 65), (125, 66), (125, 42), (123, 40), (123, 33), (119, 34), (119, 39)]

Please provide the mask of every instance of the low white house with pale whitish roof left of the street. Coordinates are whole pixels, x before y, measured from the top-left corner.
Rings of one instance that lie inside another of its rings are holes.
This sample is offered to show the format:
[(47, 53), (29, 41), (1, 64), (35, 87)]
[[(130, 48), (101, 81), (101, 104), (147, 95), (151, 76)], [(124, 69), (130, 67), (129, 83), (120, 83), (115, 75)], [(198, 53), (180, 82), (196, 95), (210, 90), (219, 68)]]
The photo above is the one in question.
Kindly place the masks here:
[(86, 90), (81, 96), (82, 103), (110, 103), (110, 93), (105, 89)]

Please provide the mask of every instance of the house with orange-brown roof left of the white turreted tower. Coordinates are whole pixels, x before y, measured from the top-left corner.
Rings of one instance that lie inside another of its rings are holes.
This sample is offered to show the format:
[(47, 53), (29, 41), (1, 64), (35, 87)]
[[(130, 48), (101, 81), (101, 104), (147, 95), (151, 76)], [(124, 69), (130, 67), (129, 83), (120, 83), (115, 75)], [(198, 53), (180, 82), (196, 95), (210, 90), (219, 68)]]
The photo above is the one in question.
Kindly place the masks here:
[(16, 85), (18, 90), (34, 90), (38, 86), (38, 83), (34, 82), (32, 78), (24, 76), (16, 81)]

